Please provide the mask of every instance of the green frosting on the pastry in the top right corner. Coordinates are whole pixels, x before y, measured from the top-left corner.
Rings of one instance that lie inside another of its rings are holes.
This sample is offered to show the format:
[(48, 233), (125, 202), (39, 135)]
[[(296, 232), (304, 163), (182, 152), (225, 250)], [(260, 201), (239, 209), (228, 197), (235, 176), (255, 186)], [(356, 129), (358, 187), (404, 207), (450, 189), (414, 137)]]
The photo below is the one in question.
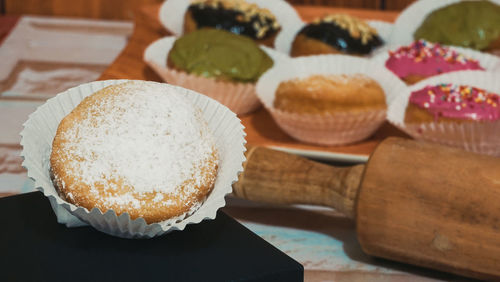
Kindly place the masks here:
[(445, 45), (488, 49), (500, 37), (500, 6), (490, 1), (463, 1), (435, 10), (414, 34)]

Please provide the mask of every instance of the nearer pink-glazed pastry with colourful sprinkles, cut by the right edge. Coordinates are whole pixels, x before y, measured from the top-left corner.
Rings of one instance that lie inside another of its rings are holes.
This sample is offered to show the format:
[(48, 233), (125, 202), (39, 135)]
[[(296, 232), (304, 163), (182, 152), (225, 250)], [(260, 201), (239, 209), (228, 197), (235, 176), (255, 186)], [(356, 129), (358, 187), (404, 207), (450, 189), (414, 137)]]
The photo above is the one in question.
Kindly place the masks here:
[(498, 121), (499, 97), (470, 86), (427, 86), (411, 93), (405, 123)]

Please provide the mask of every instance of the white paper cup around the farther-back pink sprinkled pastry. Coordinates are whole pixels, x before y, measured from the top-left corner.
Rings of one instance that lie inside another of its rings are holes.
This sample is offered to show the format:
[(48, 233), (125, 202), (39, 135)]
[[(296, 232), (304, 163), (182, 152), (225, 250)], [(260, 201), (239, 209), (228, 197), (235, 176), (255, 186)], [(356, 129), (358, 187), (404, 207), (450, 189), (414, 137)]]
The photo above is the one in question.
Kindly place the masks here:
[[(383, 52), (379, 52), (376, 56), (374, 56), (373, 60), (375, 62), (377, 62), (378, 64), (380, 64), (381, 66), (385, 67), (385, 63), (387, 62), (387, 60), (389, 60), (389, 51), (396, 51), (400, 47), (408, 46), (410, 44), (387, 46), (383, 50)], [(441, 46), (443, 46), (445, 48), (449, 48), (450, 50), (453, 50), (459, 54), (465, 55), (468, 58), (477, 60), (479, 62), (479, 65), (482, 68), (484, 68), (485, 71), (500, 72), (500, 58), (498, 58), (497, 56), (493, 56), (493, 55), (479, 52), (479, 51), (469, 49), (469, 48), (461, 48), (461, 47), (446, 46), (446, 45), (441, 45)]]

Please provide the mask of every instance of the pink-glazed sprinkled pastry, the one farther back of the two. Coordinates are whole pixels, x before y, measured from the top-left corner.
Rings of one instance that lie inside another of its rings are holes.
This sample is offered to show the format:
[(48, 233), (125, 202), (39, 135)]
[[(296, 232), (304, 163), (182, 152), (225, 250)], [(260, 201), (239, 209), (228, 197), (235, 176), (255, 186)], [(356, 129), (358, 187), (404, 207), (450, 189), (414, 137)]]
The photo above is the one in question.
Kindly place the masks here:
[(484, 70), (479, 62), (425, 40), (418, 40), (396, 51), (389, 51), (385, 66), (404, 80), (414, 84), (441, 73), (459, 70)]

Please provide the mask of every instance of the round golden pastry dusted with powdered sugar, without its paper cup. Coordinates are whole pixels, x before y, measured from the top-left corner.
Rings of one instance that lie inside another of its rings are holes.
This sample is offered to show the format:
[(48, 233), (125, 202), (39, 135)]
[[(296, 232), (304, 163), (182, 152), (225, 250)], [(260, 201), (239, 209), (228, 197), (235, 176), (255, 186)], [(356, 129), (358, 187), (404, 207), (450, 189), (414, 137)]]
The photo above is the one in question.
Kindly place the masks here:
[(201, 206), (218, 155), (197, 107), (163, 84), (134, 81), (95, 92), (61, 121), (50, 166), (66, 201), (154, 223)]

